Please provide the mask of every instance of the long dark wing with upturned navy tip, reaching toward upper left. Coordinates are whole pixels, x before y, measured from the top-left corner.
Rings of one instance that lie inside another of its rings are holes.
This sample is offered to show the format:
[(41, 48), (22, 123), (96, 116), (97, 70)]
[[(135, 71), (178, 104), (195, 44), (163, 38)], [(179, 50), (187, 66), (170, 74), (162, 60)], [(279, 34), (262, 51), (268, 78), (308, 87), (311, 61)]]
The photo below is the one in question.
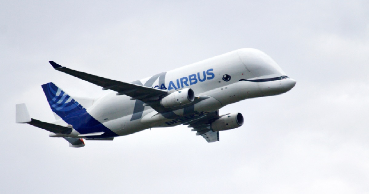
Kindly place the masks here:
[(113, 79), (103, 78), (100, 76), (87, 74), (85, 72), (76, 71), (55, 63), (54, 61), (49, 61), (49, 63), (54, 67), (54, 69), (64, 72), (66, 74), (75, 76), (77, 78), (88, 81), (92, 84), (103, 87), (103, 90), (111, 89), (118, 92), (117, 95), (127, 95), (131, 96), (131, 99), (138, 99), (142, 102), (149, 103), (158, 100), (161, 96), (167, 95), (166, 90), (150, 88), (137, 84), (130, 84), (126, 82), (121, 82)]

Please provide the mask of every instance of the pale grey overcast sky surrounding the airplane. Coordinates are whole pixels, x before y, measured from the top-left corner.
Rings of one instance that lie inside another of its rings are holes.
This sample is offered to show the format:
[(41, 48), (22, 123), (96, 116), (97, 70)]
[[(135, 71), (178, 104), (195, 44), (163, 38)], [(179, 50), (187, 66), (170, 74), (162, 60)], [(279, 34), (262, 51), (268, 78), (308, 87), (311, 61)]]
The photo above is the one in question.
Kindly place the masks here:
[[(80, 149), (15, 124), (52, 122), (41, 85), (107, 91), (49, 60), (125, 82), (238, 48), (297, 81), (220, 110), (245, 123), (207, 143), (185, 126)], [(0, 193), (369, 193), (369, 1), (0, 1)]]

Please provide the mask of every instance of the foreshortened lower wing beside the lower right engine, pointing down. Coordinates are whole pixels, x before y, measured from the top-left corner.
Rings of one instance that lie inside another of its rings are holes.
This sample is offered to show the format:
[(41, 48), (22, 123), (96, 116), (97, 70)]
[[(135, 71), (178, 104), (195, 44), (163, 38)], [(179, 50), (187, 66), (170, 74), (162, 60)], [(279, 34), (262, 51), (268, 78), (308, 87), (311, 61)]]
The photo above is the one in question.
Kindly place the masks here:
[(183, 123), (183, 125), (189, 125), (188, 127), (192, 127), (192, 131), (196, 131), (196, 135), (201, 135), (206, 139), (208, 143), (219, 141), (219, 132), (214, 132), (210, 129), (210, 123), (214, 120), (220, 118), (218, 115), (218, 111), (208, 113), (205, 116), (202, 116), (198, 119), (192, 120), (187, 123)]

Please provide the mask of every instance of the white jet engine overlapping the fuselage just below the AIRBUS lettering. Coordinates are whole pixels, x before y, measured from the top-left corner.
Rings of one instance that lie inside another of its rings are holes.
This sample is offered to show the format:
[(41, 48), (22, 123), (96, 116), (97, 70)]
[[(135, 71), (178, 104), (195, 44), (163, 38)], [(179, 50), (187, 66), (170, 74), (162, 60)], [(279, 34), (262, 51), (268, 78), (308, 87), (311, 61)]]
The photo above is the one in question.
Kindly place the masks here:
[(182, 106), (189, 104), (195, 100), (195, 93), (192, 89), (186, 88), (180, 91), (173, 92), (168, 96), (165, 96), (160, 100), (160, 104), (165, 108), (170, 108), (173, 106)]

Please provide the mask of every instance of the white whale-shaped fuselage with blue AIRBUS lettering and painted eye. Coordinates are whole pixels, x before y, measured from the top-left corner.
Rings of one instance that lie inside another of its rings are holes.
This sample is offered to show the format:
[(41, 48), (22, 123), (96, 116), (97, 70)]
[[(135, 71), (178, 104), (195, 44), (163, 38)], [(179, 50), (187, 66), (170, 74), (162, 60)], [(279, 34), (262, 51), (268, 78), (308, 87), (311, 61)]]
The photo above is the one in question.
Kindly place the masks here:
[[(296, 81), (288, 77), (270, 79), (282, 76), (286, 74), (268, 55), (244, 48), (133, 82), (169, 92), (191, 88), (196, 96), (206, 97), (191, 107), (162, 114), (111, 91), (87, 112), (117, 135), (128, 135), (151, 127), (180, 125), (244, 99), (287, 92)], [(66, 125), (62, 120), (56, 123)]]

